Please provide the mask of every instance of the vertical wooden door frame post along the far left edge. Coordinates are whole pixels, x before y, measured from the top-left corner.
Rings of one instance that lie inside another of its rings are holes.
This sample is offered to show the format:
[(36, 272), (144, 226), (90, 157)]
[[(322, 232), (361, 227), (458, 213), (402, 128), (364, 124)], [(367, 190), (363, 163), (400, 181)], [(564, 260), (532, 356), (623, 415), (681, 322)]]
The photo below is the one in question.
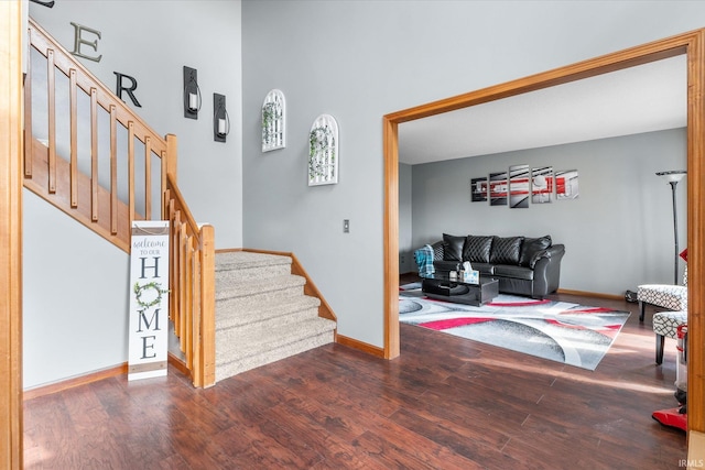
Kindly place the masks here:
[(22, 4), (0, 1), (0, 467), (22, 455)]

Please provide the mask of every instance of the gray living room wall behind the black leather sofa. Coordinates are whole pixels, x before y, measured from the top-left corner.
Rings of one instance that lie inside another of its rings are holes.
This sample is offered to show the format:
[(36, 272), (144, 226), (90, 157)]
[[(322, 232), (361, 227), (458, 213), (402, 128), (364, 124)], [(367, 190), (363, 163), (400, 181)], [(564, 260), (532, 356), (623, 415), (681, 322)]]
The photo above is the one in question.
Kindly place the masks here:
[[(561, 288), (623, 294), (673, 281), (671, 186), (655, 172), (685, 168), (685, 129), (413, 166), (414, 247), (452, 234), (551, 234), (566, 254)], [(577, 170), (579, 197), (528, 209), (470, 201), (470, 178), (511, 165)], [(687, 178), (676, 187), (686, 242)], [(401, 238), (401, 236), (400, 236)], [(682, 272), (684, 263), (680, 263)]]

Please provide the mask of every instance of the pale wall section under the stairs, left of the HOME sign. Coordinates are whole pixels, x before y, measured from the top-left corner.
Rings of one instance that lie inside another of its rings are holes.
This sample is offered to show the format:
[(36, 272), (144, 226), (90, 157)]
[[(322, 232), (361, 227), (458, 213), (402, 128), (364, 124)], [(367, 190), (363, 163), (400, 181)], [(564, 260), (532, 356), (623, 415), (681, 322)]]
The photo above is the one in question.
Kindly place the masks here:
[(23, 193), (24, 387), (128, 360), (130, 260), (33, 193)]

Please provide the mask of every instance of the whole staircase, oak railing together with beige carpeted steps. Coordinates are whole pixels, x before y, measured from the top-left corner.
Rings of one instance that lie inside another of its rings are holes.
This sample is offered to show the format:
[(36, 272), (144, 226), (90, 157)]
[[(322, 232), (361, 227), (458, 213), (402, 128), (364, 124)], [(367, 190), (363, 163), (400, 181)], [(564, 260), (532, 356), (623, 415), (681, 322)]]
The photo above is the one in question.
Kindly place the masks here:
[[(46, 72), (30, 68), (24, 85), (24, 186), (126, 253), (134, 220), (170, 221), (170, 320), (194, 386), (335, 341), (335, 314), (293, 254), (216, 253), (215, 228), (196, 223), (178, 188), (176, 136), (156, 134), (32, 20), (30, 43)], [(39, 97), (47, 102), (35, 122)], [(99, 117), (110, 122), (105, 135)], [(69, 124), (67, 142), (57, 123)]]

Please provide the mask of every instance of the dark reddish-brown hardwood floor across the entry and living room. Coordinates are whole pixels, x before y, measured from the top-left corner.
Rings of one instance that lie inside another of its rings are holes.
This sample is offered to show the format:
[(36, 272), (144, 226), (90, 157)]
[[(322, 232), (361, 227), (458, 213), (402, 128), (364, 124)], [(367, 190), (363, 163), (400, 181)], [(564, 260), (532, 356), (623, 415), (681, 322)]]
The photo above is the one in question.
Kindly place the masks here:
[(24, 406), (28, 469), (677, 469), (675, 343), (630, 310), (594, 372), (401, 326), (401, 357), (329, 345), (195, 390), (176, 370)]

